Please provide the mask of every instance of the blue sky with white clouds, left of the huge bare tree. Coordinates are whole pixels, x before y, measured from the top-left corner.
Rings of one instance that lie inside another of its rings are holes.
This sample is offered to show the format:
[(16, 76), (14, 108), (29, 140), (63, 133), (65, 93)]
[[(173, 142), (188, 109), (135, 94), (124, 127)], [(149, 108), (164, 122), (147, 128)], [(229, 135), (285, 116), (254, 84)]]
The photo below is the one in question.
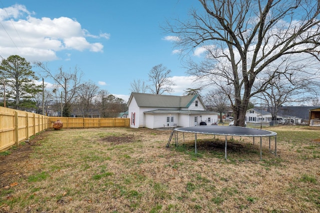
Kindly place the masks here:
[(52, 72), (77, 66), (83, 81), (124, 100), (130, 82), (147, 81), (150, 69), (163, 64), (176, 83), (171, 94), (181, 95), (195, 87), (160, 26), (185, 19), (197, 5), (196, 0), (0, 0), (0, 55), (41, 61)]

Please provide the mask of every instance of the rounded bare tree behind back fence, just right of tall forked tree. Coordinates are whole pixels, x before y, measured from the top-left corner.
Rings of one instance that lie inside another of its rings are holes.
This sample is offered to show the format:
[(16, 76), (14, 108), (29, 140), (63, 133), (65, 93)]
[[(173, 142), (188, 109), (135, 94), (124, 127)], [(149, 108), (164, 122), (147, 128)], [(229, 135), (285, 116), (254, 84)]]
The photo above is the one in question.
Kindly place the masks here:
[(91, 81), (80, 84), (76, 95), (77, 111), (86, 118), (94, 110), (94, 98), (99, 87)]

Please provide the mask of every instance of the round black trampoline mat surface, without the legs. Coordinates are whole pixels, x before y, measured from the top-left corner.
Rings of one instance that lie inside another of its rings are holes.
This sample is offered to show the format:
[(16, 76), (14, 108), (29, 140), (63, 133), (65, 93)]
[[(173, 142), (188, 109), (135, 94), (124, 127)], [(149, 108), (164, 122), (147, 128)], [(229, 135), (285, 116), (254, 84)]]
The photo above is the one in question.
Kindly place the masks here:
[(274, 136), (275, 132), (268, 130), (246, 128), (246, 127), (236, 127), (236, 126), (194, 126), (194, 127), (180, 127), (174, 129), (180, 132), (189, 133), (200, 133), (200, 134), (210, 134), (210, 135), (227, 135), (227, 136)]

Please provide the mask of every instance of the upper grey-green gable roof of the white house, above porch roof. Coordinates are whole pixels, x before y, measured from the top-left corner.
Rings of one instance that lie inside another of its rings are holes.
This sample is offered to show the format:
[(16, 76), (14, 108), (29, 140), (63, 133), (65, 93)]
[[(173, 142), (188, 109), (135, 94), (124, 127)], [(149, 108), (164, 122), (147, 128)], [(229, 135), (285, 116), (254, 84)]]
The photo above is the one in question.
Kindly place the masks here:
[(127, 106), (129, 106), (133, 97), (138, 107), (189, 107), (196, 98), (199, 98), (205, 108), (199, 95), (175, 96), (132, 92)]

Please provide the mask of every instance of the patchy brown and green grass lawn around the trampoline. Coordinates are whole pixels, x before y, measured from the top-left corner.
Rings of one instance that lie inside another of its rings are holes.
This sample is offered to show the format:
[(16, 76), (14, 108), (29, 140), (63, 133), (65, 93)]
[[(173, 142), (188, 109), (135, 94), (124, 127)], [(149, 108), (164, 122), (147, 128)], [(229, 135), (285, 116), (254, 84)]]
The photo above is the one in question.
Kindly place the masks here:
[[(107, 128), (48, 130), (0, 153), (0, 213), (320, 212), (320, 131), (263, 138)], [(271, 142), (274, 141), (271, 139)], [(274, 144), (271, 143), (271, 150)]]

